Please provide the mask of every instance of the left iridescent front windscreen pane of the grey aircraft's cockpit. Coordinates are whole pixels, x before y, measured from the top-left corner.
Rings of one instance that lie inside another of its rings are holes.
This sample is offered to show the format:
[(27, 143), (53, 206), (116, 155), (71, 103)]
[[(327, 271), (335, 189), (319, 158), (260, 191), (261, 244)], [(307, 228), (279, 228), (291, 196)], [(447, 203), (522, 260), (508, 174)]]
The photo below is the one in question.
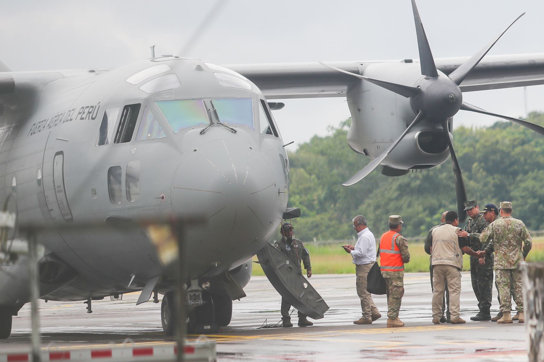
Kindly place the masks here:
[(209, 124), (208, 112), (202, 99), (156, 101), (155, 104), (174, 133), (183, 128)]

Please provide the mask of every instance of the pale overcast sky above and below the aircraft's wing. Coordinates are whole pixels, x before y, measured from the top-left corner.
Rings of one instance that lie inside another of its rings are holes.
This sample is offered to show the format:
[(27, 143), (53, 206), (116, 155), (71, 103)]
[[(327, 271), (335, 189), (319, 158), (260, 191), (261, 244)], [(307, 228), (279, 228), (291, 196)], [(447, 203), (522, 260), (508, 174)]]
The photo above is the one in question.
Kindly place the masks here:
[[(14, 71), (113, 68), (156, 53), (217, 64), (418, 58), (409, 0), (230, 0), (183, 54), (216, 1), (4, 2), (0, 60)], [(540, 0), (418, 0), (435, 58), (470, 56), (527, 12), (491, 54), (544, 53)], [(193, 39), (195, 40), (195, 39)], [(544, 110), (544, 86), (527, 88), (528, 110)], [(522, 88), (463, 93), (494, 113), (524, 116)], [(286, 142), (327, 134), (348, 118), (345, 98), (287, 99), (275, 111)], [(492, 117), (459, 111), (459, 124)], [(293, 146), (291, 146), (293, 147)], [(294, 149), (294, 148), (291, 148)]]

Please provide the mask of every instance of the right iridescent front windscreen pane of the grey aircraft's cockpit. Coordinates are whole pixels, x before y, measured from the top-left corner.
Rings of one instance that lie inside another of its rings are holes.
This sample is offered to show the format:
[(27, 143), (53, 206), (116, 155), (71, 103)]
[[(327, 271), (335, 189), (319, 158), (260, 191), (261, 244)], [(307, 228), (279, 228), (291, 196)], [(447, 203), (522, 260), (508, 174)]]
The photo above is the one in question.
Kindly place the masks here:
[(252, 98), (212, 99), (212, 103), (221, 123), (255, 129)]

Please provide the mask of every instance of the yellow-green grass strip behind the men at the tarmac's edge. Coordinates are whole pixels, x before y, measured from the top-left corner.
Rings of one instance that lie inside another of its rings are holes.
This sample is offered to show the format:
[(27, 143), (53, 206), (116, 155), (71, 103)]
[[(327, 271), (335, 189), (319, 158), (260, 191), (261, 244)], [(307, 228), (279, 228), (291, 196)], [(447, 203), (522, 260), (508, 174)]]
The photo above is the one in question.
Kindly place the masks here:
[[(310, 252), (312, 273), (314, 274), (352, 274), (355, 265), (351, 263), (351, 255), (346, 253), (338, 244), (305, 244)], [(410, 263), (404, 265), (406, 272), (429, 271), (429, 255), (425, 253), (423, 243), (409, 243)], [(463, 257), (463, 270), (470, 270), (469, 256)], [(257, 260), (254, 257), (253, 260)], [(544, 261), (544, 237), (533, 239), (533, 248), (527, 261)], [(253, 275), (264, 275), (261, 265), (253, 264)]]

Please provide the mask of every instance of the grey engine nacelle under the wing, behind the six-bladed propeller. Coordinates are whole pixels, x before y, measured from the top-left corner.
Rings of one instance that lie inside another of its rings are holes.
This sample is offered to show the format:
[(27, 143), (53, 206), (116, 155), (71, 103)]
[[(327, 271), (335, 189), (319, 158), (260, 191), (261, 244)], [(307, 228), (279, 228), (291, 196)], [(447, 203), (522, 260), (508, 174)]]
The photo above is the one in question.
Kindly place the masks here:
[[(421, 79), (417, 63), (371, 64), (364, 68), (364, 76), (405, 85), (416, 85)], [(445, 74), (440, 73), (446, 77)], [(374, 159), (386, 151), (416, 117), (410, 99), (360, 80), (348, 91), (351, 127), (348, 144), (357, 153)], [(452, 129), (452, 118), (448, 121)], [(423, 120), (400, 141), (382, 162), (384, 174), (399, 176), (409, 170), (438, 166), (449, 157), (449, 149), (441, 126)], [(450, 134), (450, 138), (452, 135)]]

